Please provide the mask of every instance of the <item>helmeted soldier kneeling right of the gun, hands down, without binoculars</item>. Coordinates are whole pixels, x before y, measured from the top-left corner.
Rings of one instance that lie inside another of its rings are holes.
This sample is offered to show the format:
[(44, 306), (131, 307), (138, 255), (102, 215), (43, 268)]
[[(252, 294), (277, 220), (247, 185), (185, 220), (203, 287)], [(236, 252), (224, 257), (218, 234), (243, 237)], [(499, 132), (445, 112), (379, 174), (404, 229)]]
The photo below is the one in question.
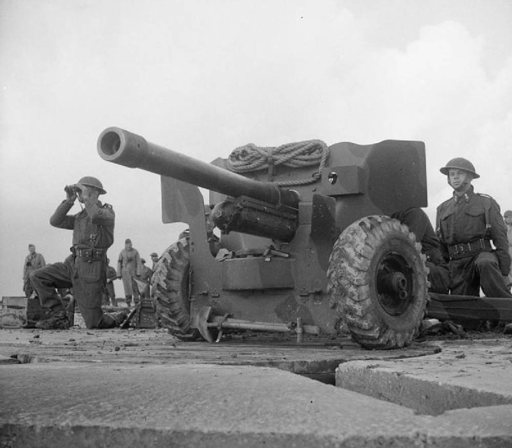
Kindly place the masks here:
[(440, 172), (454, 189), (452, 198), (437, 207), (436, 218), (441, 251), (450, 261), (451, 293), (479, 296), (482, 288), (488, 297), (512, 298), (505, 280), (510, 255), (499, 205), (474, 193), (471, 182), (480, 176), (470, 161), (457, 157)]

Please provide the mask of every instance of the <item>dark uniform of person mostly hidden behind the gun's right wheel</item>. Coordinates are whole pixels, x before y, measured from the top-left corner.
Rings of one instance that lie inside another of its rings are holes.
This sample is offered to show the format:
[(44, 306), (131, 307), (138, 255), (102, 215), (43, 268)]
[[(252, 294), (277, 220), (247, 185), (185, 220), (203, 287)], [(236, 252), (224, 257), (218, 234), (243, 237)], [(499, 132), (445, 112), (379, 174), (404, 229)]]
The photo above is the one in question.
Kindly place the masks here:
[(429, 268), (429, 291), (447, 294), (450, 288), (450, 266), (441, 254), (441, 243), (430, 223), (429, 217), (421, 208), (409, 208), (391, 215), (406, 224), (421, 243), (421, 253), (426, 257), (425, 266)]

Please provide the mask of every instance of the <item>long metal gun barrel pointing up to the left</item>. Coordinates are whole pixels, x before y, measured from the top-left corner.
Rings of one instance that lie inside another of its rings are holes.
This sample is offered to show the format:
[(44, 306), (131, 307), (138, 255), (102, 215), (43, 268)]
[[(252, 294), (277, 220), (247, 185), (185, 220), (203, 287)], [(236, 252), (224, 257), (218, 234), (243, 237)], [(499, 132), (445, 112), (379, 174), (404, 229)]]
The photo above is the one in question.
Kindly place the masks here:
[(172, 177), (223, 195), (248, 196), (273, 205), (297, 208), (298, 193), (270, 182), (248, 179), (227, 169), (196, 160), (146, 141), (140, 135), (119, 127), (108, 127), (98, 137), (98, 154), (106, 161), (140, 168)]

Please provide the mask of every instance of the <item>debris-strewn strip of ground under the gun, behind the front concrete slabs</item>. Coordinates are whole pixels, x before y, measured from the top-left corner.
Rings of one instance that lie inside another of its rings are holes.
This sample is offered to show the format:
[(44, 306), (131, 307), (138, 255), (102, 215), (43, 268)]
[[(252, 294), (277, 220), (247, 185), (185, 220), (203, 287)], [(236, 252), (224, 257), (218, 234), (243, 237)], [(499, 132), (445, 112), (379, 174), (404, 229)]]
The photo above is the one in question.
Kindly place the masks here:
[[(426, 335), (397, 350), (365, 350), (350, 337), (309, 336), (298, 344), (291, 334), (241, 332), (218, 344), (182, 342), (165, 329), (69, 330), (0, 329), (0, 355), (13, 362), (122, 362), (135, 364), (219, 364), (270, 366), (293, 373), (333, 374), (350, 360), (388, 360), (435, 355), (449, 350), (474, 362), (488, 362), (494, 351), (509, 351), (512, 335), (498, 330), (463, 335)], [(471, 355), (471, 356), (470, 356)], [(425, 358), (425, 365), (428, 366)], [(511, 366), (512, 367), (512, 366)]]

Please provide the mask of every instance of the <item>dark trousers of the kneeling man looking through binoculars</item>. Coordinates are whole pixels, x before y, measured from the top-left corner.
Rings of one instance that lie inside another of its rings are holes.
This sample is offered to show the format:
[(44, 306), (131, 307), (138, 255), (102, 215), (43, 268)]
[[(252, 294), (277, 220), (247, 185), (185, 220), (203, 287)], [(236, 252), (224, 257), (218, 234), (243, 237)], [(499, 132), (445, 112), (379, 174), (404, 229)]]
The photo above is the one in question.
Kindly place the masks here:
[(115, 319), (103, 314), (101, 297), (106, 283), (106, 259), (84, 261), (70, 255), (63, 263), (46, 265), (30, 274), (42, 308), (63, 309), (56, 289), (73, 288), (75, 302), (87, 328), (114, 328)]

